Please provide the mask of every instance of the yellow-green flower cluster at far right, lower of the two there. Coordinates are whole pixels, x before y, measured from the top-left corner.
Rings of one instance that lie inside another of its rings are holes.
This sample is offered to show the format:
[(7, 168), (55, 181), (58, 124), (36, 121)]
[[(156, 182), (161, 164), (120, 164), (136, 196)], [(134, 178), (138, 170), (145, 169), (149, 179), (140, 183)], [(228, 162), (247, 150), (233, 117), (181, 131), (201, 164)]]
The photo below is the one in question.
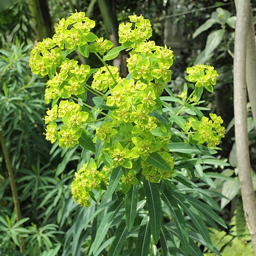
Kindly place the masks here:
[(220, 144), (221, 138), (225, 137), (225, 127), (221, 126), (223, 120), (220, 116), (210, 113), (210, 118), (202, 117), (201, 121), (196, 121), (193, 117), (189, 118), (186, 124), (188, 131), (190, 127), (196, 131), (193, 135), (189, 134), (190, 140), (197, 141), (199, 144), (207, 143), (209, 147), (215, 147)]

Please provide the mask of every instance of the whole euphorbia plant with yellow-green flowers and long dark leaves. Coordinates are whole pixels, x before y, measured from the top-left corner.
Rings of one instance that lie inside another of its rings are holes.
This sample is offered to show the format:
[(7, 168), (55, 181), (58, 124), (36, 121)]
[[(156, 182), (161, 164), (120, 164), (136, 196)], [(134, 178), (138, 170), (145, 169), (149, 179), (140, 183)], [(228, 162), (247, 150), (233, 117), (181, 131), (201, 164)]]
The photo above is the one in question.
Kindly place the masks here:
[[(33, 73), (50, 78), (45, 90), (46, 103), (52, 103), (45, 116), (46, 139), (58, 141), (60, 147), (79, 144), (91, 151), (91, 159), (75, 173), (71, 184), (75, 201), (82, 206), (100, 204), (105, 197), (119, 202), (120, 211), (109, 208), (111, 214), (100, 224), (118, 226), (108, 255), (121, 255), (127, 247), (126, 237), (133, 233), (138, 237), (135, 255), (148, 255), (150, 243), (157, 244), (159, 237), (159, 250), (164, 255), (169, 255), (168, 241), (173, 250), (186, 255), (191, 250), (200, 252), (190, 231), (199, 234), (199, 242), (216, 252), (203, 221), (225, 226), (211, 209), (215, 204), (211, 202), (210, 207), (185, 196), (186, 190), (181, 193), (179, 186), (197, 188), (187, 179), (189, 173), (194, 175), (194, 166), (201, 166), (207, 155), (216, 153), (212, 147), (219, 145), (225, 134), (222, 119), (215, 114), (205, 117), (198, 107), (203, 90), (213, 91), (218, 74), (211, 66), (188, 68), (186, 79), (195, 83), (195, 90), (188, 96), (185, 84), (181, 95), (175, 97), (167, 86), (171, 81), (172, 50), (149, 40), (152, 29), (148, 19), (142, 15), (129, 19), (131, 22), (119, 25), (121, 46), (113, 49), (110, 41), (91, 32), (95, 22), (83, 12), (76, 12), (59, 21), (52, 39), (44, 39), (31, 51)], [(86, 58), (94, 53), (102, 67), (91, 68), (69, 59), (74, 50)], [(122, 78), (118, 68), (106, 61), (124, 50), (130, 55), (126, 60), (129, 75)], [(169, 96), (161, 96), (164, 90)], [(87, 92), (95, 95), (95, 106), (86, 103)], [(202, 146), (204, 143), (208, 147)], [(203, 211), (202, 216), (198, 210)], [(186, 221), (184, 212), (188, 215)], [(97, 254), (107, 231), (99, 228), (90, 253)], [(173, 237), (180, 239), (181, 247), (177, 243), (174, 246)]]

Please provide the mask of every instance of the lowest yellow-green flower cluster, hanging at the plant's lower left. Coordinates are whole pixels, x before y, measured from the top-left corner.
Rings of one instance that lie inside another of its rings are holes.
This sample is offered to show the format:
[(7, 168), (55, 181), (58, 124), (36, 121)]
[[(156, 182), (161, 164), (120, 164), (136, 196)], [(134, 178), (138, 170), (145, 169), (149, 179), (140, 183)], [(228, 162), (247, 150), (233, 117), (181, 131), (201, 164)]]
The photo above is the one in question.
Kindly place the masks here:
[(71, 194), (75, 202), (82, 206), (90, 206), (90, 197), (94, 196), (93, 190), (106, 189), (108, 185), (109, 169), (103, 166), (101, 171), (97, 170), (97, 164), (93, 159), (85, 163), (82, 168), (75, 173), (74, 181), (71, 183)]

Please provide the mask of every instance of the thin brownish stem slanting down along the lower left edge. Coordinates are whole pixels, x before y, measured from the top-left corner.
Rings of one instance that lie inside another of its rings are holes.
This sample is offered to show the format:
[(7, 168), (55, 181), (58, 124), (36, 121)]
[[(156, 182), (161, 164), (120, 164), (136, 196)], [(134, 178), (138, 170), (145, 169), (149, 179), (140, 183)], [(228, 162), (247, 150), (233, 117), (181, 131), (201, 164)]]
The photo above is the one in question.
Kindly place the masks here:
[[(17, 187), (16, 187), (16, 182), (14, 179), (14, 173), (12, 170), (12, 165), (11, 165), (11, 161), (10, 161), (10, 156), (9, 156), (9, 152), (7, 150), (6, 147), (6, 143), (5, 143), (5, 139), (4, 139), (4, 134), (3, 131), (0, 128), (0, 142), (2, 145), (2, 150), (3, 150), (3, 154), (4, 154), (4, 159), (5, 159), (5, 163), (6, 163), (6, 169), (7, 169), (7, 173), (8, 173), (8, 177), (10, 180), (10, 185), (11, 185), (11, 190), (12, 190), (12, 198), (13, 198), (13, 204), (14, 204), (14, 212), (16, 215), (16, 220), (19, 221), (21, 219), (21, 213), (20, 213), (20, 203), (19, 203), (19, 198), (18, 198), (18, 192), (17, 192)], [(22, 237), (20, 237), (20, 252), (22, 253), (23, 250), (23, 239)]]

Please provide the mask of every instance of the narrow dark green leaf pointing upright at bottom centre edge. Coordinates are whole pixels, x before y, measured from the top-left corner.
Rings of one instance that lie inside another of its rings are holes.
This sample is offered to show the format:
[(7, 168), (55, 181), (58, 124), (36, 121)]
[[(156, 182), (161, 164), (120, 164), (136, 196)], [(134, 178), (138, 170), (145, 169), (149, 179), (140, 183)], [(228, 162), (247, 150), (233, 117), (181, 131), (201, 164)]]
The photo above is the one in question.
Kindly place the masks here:
[(148, 256), (150, 235), (149, 217), (146, 216), (140, 223), (140, 230), (134, 256)]

